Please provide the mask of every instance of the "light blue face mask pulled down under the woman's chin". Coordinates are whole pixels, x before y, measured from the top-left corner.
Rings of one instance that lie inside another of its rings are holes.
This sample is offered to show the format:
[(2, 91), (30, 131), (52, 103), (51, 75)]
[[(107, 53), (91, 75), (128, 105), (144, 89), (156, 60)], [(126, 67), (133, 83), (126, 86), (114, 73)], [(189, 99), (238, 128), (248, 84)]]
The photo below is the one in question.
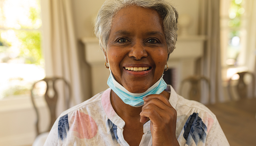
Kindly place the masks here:
[(167, 84), (165, 83), (162, 75), (162, 77), (144, 93), (131, 93), (114, 79), (111, 70), (107, 84), (125, 104), (128, 104), (132, 107), (143, 106), (143, 97), (146, 97), (150, 94), (160, 94), (167, 87)]

